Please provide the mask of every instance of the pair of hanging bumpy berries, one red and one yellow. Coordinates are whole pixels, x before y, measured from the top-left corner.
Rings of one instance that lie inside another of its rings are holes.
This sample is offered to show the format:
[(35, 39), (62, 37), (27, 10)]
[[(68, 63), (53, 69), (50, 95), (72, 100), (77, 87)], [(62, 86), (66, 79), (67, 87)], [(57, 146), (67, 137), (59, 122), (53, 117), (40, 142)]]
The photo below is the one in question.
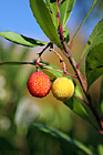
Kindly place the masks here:
[[(50, 78), (43, 72), (34, 72), (30, 75), (28, 90), (32, 96), (44, 97), (51, 90)], [(52, 84), (52, 94), (60, 101), (69, 100), (74, 93), (74, 84), (68, 78), (58, 78)]]

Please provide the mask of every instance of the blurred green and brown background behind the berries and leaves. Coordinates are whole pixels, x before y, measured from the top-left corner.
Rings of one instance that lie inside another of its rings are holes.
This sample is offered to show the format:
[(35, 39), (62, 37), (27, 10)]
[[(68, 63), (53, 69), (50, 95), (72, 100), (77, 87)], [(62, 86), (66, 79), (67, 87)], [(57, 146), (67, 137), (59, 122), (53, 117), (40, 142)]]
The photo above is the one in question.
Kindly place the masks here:
[[(76, 7), (79, 6), (81, 8), (81, 0), (78, 1)], [(86, 8), (89, 6), (84, 4), (82, 14), (85, 14)], [(75, 38), (72, 54), (76, 62), (84, 48), (85, 29), (90, 27), (91, 20), (100, 14), (99, 12), (103, 13), (102, 0), (94, 14), (86, 21), (86, 27)], [(80, 19), (82, 18), (83, 16)], [(73, 27), (78, 27), (78, 22)], [(71, 31), (71, 38), (73, 33)], [(41, 50), (42, 48), (28, 49), (0, 40), (0, 62), (32, 62), (38, 58), (37, 52)], [(61, 68), (53, 53), (47, 51), (42, 60)], [(65, 62), (69, 72), (73, 73), (66, 60)], [(68, 142), (40, 131), (33, 125), (34, 122), (60, 130), (89, 146), (96, 155), (103, 155), (103, 136), (62, 102), (56, 101), (51, 92), (44, 99), (35, 99), (29, 94), (27, 81), (34, 71), (35, 66), (30, 64), (0, 65), (0, 155), (84, 155)], [(101, 78), (91, 87), (94, 100), (99, 99), (100, 84)], [(97, 93), (93, 91), (96, 85)]]

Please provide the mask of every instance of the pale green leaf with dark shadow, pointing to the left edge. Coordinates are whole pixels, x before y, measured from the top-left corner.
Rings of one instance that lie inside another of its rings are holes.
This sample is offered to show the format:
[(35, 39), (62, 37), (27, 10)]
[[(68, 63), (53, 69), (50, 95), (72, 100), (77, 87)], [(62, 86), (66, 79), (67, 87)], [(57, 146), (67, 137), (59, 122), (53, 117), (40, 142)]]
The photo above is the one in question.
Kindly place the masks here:
[(41, 45), (47, 44), (45, 42), (38, 41), (38, 40), (34, 40), (31, 38), (27, 38), (27, 37), (23, 37), (22, 34), (18, 34), (18, 33), (10, 32), (10, 31), (2, 31), (2, 32), (0, 32), (0, 35), (14, 43), (25, 45), (25, 46), (31, 46), (31, 48), (41, 46)]

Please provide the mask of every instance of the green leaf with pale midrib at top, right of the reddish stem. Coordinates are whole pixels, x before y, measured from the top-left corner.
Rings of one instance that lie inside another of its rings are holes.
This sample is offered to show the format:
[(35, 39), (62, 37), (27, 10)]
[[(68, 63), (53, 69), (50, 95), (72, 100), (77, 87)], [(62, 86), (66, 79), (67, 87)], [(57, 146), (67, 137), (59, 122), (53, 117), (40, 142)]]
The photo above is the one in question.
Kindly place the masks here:
[(68, 20), (69, 20), (69, 17), (71, 14), (71, 11), (73, 9), (73, 6), (75, 3), (75, 0), (64, 0), (62, 3), (61, 3), (61, 8), (60, 8), (60, 11), (61, 11), (61, 24), (62, 24), (62, 28), (64, 29)]

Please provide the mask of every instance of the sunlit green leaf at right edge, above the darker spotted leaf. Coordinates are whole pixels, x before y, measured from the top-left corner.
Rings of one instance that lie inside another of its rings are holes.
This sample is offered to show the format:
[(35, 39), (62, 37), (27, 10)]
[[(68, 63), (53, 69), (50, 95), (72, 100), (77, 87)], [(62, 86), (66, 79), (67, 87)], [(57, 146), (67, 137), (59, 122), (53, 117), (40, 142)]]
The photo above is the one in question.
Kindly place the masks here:
[(100, 20), (100, 22), (94, 28), (92, 34), (90, 35), (90, 39), (87, 40), (84, 46), (81, 58), (83, 58), (85, 53), (87, 54), (91, 49), (93, 49), (95, 45), (97, 45), (102, 41), (103, 41), (103, 19)]

